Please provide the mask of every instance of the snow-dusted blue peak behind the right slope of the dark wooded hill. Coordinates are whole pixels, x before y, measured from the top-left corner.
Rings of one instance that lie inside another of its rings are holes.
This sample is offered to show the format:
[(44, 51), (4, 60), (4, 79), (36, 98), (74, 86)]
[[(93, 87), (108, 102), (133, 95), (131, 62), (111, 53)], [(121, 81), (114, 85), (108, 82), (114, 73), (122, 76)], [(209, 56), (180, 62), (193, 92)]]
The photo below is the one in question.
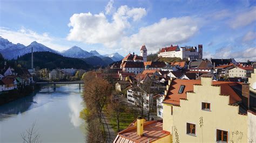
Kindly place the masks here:
[(77, 46), (73, 46), (70, 49), (63, 51), (61, 54), (71, 58), (87, 58), (93, 56), (92, 53), (84, 51), (82, 48)]

